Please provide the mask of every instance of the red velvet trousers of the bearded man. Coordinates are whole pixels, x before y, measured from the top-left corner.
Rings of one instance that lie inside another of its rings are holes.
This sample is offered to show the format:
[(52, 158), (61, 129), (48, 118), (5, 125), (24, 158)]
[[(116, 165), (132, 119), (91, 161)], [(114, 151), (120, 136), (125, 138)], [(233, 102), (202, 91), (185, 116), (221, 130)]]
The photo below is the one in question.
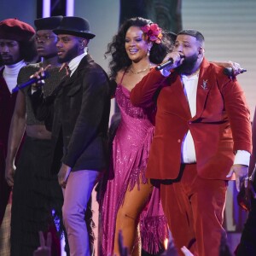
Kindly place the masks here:
[(182, 165), (177, 181), (161, 183), (161, 201), (179, 255), (186, 246), (196, 256), (218, 256), (226, 190), (227, 181), (198, 177), (196, 164)]

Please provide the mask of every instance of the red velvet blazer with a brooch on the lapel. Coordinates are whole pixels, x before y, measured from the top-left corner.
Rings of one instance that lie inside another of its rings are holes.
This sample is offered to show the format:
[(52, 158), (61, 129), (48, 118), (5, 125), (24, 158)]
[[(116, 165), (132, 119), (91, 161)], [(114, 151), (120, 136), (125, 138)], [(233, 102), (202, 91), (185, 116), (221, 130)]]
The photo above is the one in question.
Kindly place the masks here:
[(131, 90), (131, 102), (140, 107), (157, 105), (148, 177), (177, 178), (183, 137), (189, 130), (198, 174), (204, 178), (227, 179), (236, 150), (252, 150), (250, 113), (240, 85), (224, 75), (223, 67), (206, 59), (199, 73), (195, 117), (191, 117), (181, 78), (175, 71), (165, 78), (151, 70)]

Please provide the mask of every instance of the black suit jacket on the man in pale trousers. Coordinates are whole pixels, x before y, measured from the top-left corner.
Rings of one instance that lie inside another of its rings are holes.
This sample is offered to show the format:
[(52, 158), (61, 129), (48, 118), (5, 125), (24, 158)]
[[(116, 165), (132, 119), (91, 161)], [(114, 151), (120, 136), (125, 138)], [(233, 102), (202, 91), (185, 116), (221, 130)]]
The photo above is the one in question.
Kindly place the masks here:
[[(36, 98), (33, 102), (38, 101)], [(72, 172), (107, 168), (109, 111), (108, 75), (85, 55), (73, 75), (63, 79), (53, 96), (36, 109), (38, 119), (49, 121), (53, 117), (53, 164), (58, 162), (63, 146), (61, 161), (72, 167)]]

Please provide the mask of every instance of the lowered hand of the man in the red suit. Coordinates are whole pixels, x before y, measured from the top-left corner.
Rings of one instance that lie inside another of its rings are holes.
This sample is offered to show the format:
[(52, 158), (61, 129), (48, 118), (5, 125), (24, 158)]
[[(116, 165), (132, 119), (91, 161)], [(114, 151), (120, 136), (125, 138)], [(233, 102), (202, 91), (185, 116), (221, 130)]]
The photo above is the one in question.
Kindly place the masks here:
[(236, 189), (239, 192), (242, 183), (244, 183), (245, 188), (247, 188), (248, 183), (248, 166), (243, 165), (233, 165), (231, 166), (230, 172), (226, 177), (231, 177), (232, 173), (236, 174)]

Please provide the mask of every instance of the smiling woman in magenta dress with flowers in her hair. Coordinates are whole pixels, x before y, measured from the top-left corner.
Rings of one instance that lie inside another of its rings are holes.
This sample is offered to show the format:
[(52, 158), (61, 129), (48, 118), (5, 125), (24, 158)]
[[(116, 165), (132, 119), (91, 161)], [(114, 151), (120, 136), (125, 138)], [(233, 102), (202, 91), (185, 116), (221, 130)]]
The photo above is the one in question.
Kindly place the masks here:
[(100, 199), (100, 255), (119, 255), (119, 230), (131, 255), (139, 255), (141, 247), (158, 253), (168, 236), (159, 189), (145, 177), (154, 108), (133, 107), (130, 91), (171, 48), (166, 32), (140, 17), (126, 20), (108, 44), (110, 79), (117, 84), (113, 96), (121, 118)]

